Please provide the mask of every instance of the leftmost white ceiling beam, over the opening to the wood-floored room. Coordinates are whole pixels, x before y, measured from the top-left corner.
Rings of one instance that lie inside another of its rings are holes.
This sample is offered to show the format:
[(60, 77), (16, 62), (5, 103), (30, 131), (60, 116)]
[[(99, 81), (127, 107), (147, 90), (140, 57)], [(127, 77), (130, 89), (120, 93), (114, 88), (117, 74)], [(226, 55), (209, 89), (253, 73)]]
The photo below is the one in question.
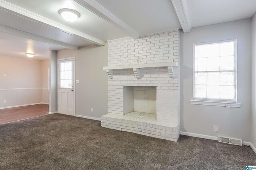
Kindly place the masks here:
[(4, 33), (9, 33), (9, 34), (12, 34), (12, 35), (17, 35), (19, 37), (33, 39), (33, 40), (40, 41), (40, 42), (43, 42), (43, 43), (58, 45), (58, 46), (65, 47), (65, 48), (68, 48), (68, 49), (74, 49), (74, 50), (78, 49), (78, 47), (74, 46), (74, 45), (70, 45), (70, 44), (67, 44), (67, 43), (62, 43), (60, 41), (56, 41), (56, 40), (53, 40), (53, 39), (41, 37), (41, 36), (38, 36), (38, 35), (34, 35), (32, 33), (27, 33), (27, 32), (24, 32), (24, 31), (20, 31), (18, 29), (5, 27), (3, 25), (0, 25), (0, 31), (4, 32)]

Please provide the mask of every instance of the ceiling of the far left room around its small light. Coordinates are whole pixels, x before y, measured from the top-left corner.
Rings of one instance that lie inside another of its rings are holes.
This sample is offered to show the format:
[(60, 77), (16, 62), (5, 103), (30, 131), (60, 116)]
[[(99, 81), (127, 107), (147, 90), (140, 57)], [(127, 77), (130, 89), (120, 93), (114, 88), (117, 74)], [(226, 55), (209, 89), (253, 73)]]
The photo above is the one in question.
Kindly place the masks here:
[(62, 49), (65, 48), (0, 32), (0, 55), (28, 58), (25, 53), (34, 53), (36, 55), (31, 59), (47, 60), (49, 50)]

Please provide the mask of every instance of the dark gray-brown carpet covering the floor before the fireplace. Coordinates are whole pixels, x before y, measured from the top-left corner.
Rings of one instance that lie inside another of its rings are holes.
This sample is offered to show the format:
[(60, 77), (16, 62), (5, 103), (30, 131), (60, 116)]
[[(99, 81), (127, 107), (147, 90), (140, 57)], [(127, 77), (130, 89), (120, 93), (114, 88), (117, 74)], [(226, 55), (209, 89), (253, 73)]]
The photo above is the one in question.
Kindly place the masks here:
[(180, 136), (171, 142), (106, 129), (100, 121), (45, 115), (0, 125), (0, 169), (245, 169), (250, 147)]

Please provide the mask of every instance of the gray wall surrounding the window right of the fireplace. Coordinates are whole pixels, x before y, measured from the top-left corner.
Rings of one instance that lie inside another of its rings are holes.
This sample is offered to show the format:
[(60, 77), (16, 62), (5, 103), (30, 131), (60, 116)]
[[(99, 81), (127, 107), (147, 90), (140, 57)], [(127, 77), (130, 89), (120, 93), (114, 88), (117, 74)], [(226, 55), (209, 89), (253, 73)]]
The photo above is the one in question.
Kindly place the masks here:
[[(192, 105), (193, 43), (237, 39), (237, 99), (241, 108)], [(251, 19), (196, 27), (180, 31), (181, 131), (227, 136), (250, 141), (251, 112)], [(218, 132), (213, 126), (218, 125)]]

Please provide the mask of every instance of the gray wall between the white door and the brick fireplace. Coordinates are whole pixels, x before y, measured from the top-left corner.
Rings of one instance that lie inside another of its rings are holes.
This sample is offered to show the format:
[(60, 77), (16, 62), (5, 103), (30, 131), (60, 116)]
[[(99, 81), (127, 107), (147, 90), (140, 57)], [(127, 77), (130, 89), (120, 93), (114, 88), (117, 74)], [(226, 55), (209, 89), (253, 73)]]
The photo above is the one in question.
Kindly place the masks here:
[[(78, 50), (58, 51), (58, 59), (75, 57), (76, 115), (100, 118), (108, 113), (108, 45), (90, 45)], [(93, 112), (91, 112), (93, 108)]]

